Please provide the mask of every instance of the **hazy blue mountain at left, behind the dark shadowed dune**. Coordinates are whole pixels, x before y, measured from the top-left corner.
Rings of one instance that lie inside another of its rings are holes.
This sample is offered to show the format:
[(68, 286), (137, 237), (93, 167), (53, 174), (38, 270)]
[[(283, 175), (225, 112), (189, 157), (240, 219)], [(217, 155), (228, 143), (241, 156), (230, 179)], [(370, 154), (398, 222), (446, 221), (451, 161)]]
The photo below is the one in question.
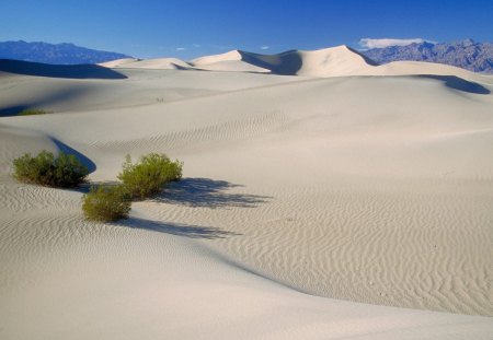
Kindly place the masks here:
[(73, 44), (26, 43), (23, 40), (0, 43), (0, 59), (77, 65), (99, 63), (122, 58), (129, 58), (129, 56), (89, 49)]

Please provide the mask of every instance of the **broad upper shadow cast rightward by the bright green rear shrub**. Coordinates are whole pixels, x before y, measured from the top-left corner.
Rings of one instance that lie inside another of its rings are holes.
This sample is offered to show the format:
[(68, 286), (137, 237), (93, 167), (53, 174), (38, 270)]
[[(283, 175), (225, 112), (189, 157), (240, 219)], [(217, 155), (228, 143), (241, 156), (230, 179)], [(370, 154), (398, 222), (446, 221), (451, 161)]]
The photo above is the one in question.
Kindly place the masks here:
[(154, 200), (170, 204), (216, 209), (254, 208), (271, 199), (267, 196), (226, 192), (236, 187), (240, 186), (226, 180), (183, 178), (180, 181), (170, 183)]

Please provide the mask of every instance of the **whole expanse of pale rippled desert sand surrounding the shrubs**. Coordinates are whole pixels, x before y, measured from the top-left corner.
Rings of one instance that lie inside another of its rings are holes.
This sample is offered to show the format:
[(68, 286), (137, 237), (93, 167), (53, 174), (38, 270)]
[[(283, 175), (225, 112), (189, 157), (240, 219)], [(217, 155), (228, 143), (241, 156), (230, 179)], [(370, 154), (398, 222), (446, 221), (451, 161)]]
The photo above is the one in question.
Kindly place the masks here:
[[(492, 77), (345, 46), (0, 67), (1, 339), (491, 339)], [(90, 223), (87, 187), (12, 179), (41, 150), (184, 178)]]

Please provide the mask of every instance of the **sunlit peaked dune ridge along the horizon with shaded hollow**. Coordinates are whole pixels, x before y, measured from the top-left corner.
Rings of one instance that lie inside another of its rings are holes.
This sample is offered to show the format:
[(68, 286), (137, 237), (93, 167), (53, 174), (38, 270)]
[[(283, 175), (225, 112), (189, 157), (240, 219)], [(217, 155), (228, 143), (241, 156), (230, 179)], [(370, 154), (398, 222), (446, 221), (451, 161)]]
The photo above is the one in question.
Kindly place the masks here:
[(378, 66), (358, 51), (342, 45), (319, 50), (289, 50), (275, 55), (260, 55), (231, 50), (204, 56), (190, 62), (176, 58), (137, 60), (121, 59), (101, 63), (107, 68), (197, 69), (228, 72), (257, 72), (302, 77), (347, 75), (450, 75), (465, 80), (480, 80), (492, 84), (492, 77), (460, 68), (420, 61), (395, 61)]

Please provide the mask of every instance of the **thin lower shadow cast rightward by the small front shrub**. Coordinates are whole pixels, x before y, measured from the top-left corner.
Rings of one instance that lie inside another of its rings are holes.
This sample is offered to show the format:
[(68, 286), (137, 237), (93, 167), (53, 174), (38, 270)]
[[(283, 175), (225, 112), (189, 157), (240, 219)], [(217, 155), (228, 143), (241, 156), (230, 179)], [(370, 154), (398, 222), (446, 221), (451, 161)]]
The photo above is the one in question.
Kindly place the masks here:
[(138, 218), (130, 218), (128, 220), (121, 221), (117, 223), (117, 225), (202, 239), (216, 239), (226, 238), (228, 236), (242, 235), (222, 231), (218, 227), (213, 226), (196, 226), (183, 223), (164, 223)]

